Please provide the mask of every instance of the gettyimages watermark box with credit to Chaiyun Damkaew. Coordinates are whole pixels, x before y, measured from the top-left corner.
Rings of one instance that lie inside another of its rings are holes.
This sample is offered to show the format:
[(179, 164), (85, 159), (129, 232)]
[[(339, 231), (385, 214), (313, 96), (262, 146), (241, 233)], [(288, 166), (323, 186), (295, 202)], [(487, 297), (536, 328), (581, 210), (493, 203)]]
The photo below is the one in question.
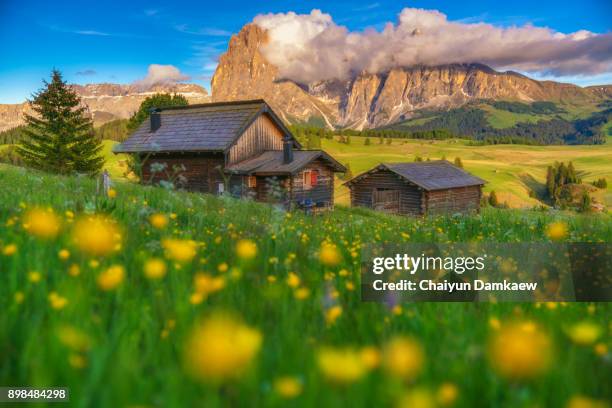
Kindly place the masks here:
[(371, 245), (361, 259), (364, 301), (612, 301), (608, 244)]

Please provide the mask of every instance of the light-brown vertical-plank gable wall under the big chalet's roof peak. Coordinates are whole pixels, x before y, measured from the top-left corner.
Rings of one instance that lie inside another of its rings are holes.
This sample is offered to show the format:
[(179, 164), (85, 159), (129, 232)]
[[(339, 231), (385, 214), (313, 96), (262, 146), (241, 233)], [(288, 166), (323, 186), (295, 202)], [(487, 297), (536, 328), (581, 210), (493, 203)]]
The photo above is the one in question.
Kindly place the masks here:
[(268, 115), (260, 115), (230, 147), (227, 164), (237, 163), (265, 150), (283, 150), (283, 132)]

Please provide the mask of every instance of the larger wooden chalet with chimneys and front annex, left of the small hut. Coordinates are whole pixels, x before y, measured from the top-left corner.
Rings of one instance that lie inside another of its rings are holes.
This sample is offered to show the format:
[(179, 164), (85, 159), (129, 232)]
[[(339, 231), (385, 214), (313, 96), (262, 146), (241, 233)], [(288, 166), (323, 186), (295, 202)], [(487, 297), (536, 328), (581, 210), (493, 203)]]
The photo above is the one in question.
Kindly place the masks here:
[(263, 100), (156, 109), (115, 153), (142, 160), (142, 182), (180, 174), (187, 190), (328, 208), (334, 173), (346, 169), (321, 150), (302, 150)]

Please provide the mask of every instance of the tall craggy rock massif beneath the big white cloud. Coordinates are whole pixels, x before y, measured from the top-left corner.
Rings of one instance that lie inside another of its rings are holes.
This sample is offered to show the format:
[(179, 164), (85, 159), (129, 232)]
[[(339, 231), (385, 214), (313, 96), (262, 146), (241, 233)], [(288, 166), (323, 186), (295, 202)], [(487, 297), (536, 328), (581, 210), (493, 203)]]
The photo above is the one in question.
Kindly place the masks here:
[(483, 98), (583, 103), (612, 95), (612, 86), (536, 81), (481, 64), (413, 66), (298, 84), (280, 78), (266, 61), (261, 52), (266, 41), (267, 33), (255, 24), (231, 38), (212, 79), (213, 100), (264, 98), (289, 122), (363, 129), (405, 120), (421, 109), (457, 107)]

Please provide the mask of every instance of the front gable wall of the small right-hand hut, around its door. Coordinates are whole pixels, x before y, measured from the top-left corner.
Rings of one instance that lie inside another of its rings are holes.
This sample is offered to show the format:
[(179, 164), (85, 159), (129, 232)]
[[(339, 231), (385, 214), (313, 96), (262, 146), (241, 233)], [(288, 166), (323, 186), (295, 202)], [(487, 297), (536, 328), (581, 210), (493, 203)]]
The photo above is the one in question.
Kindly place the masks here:
[(353, 207), (373, 208), (373, 193), (377, 188), (399, 190), (399, 214), (421, 215), (424, 211), (422, 190), (389, 170), (378, 170), (356, 181), (351, 187)]

